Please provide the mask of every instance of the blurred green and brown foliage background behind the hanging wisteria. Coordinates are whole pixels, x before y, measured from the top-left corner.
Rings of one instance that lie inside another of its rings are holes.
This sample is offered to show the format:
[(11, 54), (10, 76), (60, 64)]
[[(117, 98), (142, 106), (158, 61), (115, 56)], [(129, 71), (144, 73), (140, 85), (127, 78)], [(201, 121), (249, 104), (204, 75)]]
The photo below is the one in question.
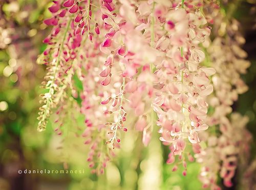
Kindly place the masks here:
[[(118, 159), (108, 165), (104, 175), (91, 174), (86, 161), (88, 148), (80, 138), (70, 135), (72, 127), (81, 127), (84, 121), (79, 113), (73, 112), (72, 103), (65, 105), (65, 147), (60, 146), (63, 139), (53, 132), (54, 123), (49, 122), (45, 132), (37, 132), (38, 97), (42, 91), (39, 86), (45, 67), (36, 65), (35, 60), (45, 49), (41, 41), (49, 31), (42, 20), (49, 15), (49, 5), (50, 0), (0, 1), (0, 189), (201, 189), (196, 162), (188, 164), (186, 177), (181, 169), (174, 174), (173, 166), (165, 164), (168, 149), (162, 146), (159, 137), (155, 135), (144, 148), (141, 134), (134, 131), (127, 132)], [(243, 76), (249, 91), (239, 97), (233, 108), (250, 119), (248, 129), (254, 137), (251, 159), (256, 148), (255, 11), (255, 1), (248, 0), (240, 2), (234, 13), (242, 23), (241, 31), (247, 40), (244, 49), (251, 67)], [(79, 83), (77, 86), (79, 89)], [(19, 169), (63, 168), (84, 173), (17, 173)], [(239, 179), (236, 181), (239, 183)]]

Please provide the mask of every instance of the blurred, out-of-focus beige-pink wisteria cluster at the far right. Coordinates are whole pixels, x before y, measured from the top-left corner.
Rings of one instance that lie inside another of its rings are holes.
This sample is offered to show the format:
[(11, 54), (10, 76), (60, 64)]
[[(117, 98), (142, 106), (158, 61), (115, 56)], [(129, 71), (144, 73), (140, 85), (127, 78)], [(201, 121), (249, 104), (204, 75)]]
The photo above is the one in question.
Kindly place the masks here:
[(238, 31), (239, 22), (235, 19), (225, 21), (223, 13), (212, 15), (216, 15), (216, 37), (207, 50), (208, 62), (212, 62), (216, 74), (212, 77), (214, 93), (207, 98), (211, 113), (206, 123), (213, 130), (200, 134), (208, 146), (196, 157), (202, 164), (199, 178), (203, 186), (220, 189), (218, 174), (225, 186), (232, 186), (238, 162), (246, 160), (244, 155), (249, 154), (251, 134), (245, 128), (248, 118), (233, 113), (231, 106), (239, 94), (248, 90), (240, 75), (246, 73), (250, 63), (245, 60), (247, 53), (240, 47), (245, 39)]

